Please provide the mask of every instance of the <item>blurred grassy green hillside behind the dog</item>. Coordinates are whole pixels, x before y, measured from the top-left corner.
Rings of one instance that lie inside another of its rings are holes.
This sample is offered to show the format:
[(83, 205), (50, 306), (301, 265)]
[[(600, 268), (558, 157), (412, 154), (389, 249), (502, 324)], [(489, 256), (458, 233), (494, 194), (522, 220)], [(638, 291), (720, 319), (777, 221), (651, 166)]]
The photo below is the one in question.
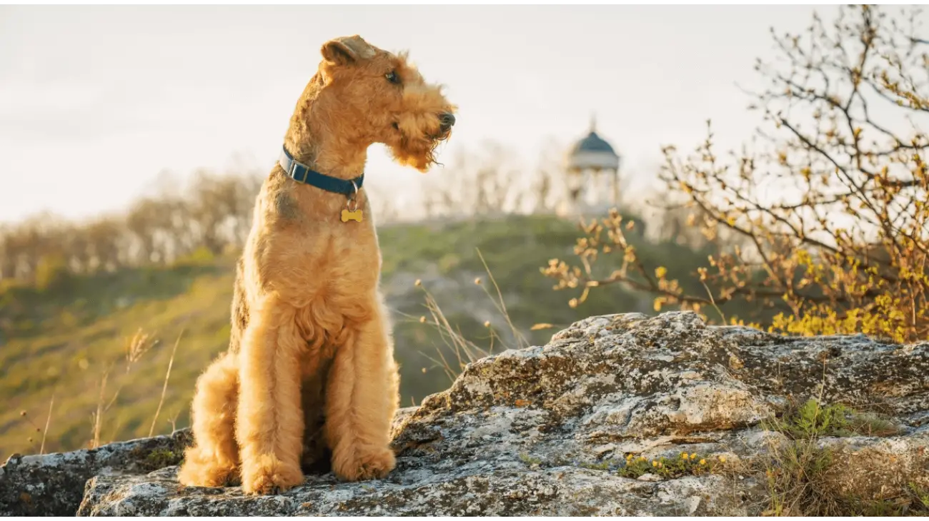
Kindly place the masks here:
[[(438, 351), (456, 366), (434, 325), (420, 317), (427, 289), (449, 323), (481, 347), (493, 344), (491, 331), (505, 347), (516, 347), (504, 317), (485, 288), (495, 295), (478, 249), (496, 278), (509, 316), (531, 344), (541, 345), (553, 329), (530, 330), (532, 324), (564, 327), (586, 316), (650, 311), (650, 299), (615, 287), (596, 292), (577, 309), (574, 295), (552, 290), (553, 281), (539, 268), (552, 257), (568, 257), (576, 225), (552, 217), (384, 226), (379, 236), (384, 253), (384, 289), (393, 311), (397, 357), (401, 365), (402, 405), (419, 403), (447, 388), (451, 379), (437, 360)], [(638, 246), (640, 255), (665, 262), (674, 276), (706, 259), (705, 254), (674, 245)], [(0, 459), (13, 452), (38, 452), (49, 401), (54, 407), (45, 451), (68, 451), (88, 445), (93, 416), (102, 404), (100, 443), (149, 434), (164, 375), (177, 341), (164, 406), (154, 426), (164, 434), (187, 426), (197, 375), (229, 337), (229, 300), (234, 256), (193, 256), (170, 267), (126, 269), (92, 277), (73, 277), (45, 289), (7, 286), (0, 290)], [(483, 277), (476, 285), (475, 278)], [(415, 281), (422, 286), (415, 286)], [(491, 322), (491, 328), (485, 321)], [(127, 368), (126, 345), (137, 331), (155, 342)], [(183, 332), (183, 333), (182, 333)], [(101, 379), (111, 371), (100, 399)], [(457, 371), (457, 367), (452, 367)], [(25, 412), (25, 417), (20, 412)], [(30, 441), (32, 438), (32, 441)], [(2, 461), (2, 460), (0, 460)]]

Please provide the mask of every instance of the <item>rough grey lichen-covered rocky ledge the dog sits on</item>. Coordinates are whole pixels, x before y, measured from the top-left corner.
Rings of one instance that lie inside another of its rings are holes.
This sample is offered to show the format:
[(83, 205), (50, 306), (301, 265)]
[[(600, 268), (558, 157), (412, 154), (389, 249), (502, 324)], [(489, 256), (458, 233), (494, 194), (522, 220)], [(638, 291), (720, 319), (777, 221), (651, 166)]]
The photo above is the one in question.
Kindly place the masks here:
[(833, 489), (882, 500), (929, 488), (929, 343), (779, 337), (668, 312), (592, 317), (471, 363), (399, 413), (383, 480), (307, 476), (267, 497), (185, 488), (179, 431), (14, 456), (0, 516), (759, 515), (770, 498), (757, 462), (796, 434), (770, 420), (811, 397), (881, 417), (873, 432), (816, 438)]

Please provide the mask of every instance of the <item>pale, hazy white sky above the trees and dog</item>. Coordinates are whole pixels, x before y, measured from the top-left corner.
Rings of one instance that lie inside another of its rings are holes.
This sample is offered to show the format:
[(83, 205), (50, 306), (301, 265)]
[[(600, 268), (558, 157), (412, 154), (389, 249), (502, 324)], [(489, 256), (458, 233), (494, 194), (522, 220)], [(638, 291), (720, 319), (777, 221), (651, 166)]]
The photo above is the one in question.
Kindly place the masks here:
[[(409, 50), (447, 86), (459, 112), (440, 160), (487, 141), (534, 160), (582, 138), (595, 114), (623, 175), (648, 182), (661, 146), (698, 145), (707, 119), (721, 146), (745, 141), (759, 116), (740, 87), (759, 86), (754, 59), (775, 56), (769, 28), (797, 32), (841, 5), (0, 0), (0, 222), (121, 210), (165, 172), (269, 171), (321, 44), (351, 34)], [(366, 173), (397, 200), (424, 175), (380, 146)]]

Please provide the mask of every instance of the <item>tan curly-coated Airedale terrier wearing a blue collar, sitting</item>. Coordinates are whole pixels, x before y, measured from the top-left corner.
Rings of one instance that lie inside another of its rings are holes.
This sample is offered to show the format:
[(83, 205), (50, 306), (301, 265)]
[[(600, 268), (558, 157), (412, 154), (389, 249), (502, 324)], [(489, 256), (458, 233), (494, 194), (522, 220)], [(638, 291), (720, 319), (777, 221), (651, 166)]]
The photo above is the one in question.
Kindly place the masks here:
[(313, 464), (348, 481), (395, 466), (399, 375), (363, 171), (373, 143), (428, 170), (456, 108), (405, 53), (355, 35), (321, 54), (255, 200), (229, 350), (197, 380), (184, 485), (241, 479), (244, 492), (268, 494)]

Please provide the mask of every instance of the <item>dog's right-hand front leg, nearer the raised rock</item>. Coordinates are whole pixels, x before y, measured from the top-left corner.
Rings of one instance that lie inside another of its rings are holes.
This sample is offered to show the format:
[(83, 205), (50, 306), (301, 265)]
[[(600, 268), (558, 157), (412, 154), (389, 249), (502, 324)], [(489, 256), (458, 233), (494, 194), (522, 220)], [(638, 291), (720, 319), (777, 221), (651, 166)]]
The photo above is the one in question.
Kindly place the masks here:
[(335, 475), (347, 481), (385, 477), (396, 464), (397, 365), (386, 311), (380, 301), (371, 307), (372, 318), (336, 348), (326, 388), (326, 441)]

